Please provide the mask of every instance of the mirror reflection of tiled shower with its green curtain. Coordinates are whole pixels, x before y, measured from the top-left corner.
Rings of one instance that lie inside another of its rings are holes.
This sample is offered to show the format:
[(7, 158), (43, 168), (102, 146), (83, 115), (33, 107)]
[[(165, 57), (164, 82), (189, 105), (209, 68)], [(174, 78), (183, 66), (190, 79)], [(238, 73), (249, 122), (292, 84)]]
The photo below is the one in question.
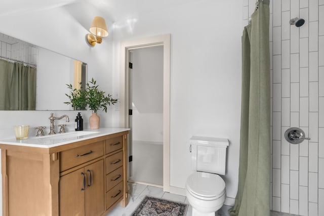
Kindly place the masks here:
[(34, 110), (37, 48), (0, 36), (0, 110)]

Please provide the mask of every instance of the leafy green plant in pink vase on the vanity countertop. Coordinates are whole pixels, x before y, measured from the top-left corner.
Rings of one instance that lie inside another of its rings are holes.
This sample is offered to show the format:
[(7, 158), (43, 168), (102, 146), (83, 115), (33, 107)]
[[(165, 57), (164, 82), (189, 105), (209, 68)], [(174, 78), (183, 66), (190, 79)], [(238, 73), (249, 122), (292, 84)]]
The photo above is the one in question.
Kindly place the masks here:
[(105, 92), (98, 89), (99, 85), (96, 84), (96, 80), (93, 78), (87, 82), (87, 104), (89, 109), (92, 110), (92, 115), (89, 118), (89, 124), (91, 129), (98, 129), (100, 125), (100, 118), (97, 115), (97, 111), (102, 109), (107, 112), (107, 106), (117, 103), (117, 99), (113, 99), (112, 95), (105, 95)]

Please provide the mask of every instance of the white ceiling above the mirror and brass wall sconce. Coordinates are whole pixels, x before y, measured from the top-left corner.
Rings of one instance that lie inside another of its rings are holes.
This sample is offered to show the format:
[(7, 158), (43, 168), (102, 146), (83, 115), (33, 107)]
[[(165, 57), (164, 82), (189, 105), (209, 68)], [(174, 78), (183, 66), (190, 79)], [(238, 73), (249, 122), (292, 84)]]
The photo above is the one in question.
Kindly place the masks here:
[(80, 14), (80, 12), (87, 13), (87, 10), (91, 10), (89, 8), (95, 8), (102, 13), (99, 16), (114, 23), (137, 17), (142, 13), (152, 13), (197, 1), (204, 0), (10, 0), (3, 1), (0, 16), (57, 7), (66, 7), (71, 14)]

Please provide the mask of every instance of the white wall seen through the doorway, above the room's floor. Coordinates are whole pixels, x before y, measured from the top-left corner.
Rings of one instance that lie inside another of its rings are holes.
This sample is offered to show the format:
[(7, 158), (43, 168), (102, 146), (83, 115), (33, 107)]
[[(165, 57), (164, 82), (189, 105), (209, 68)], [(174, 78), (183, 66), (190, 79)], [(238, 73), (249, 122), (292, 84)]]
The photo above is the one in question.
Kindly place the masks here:
[(163, 142), (163, 47), (132, 51), (132, 138)]

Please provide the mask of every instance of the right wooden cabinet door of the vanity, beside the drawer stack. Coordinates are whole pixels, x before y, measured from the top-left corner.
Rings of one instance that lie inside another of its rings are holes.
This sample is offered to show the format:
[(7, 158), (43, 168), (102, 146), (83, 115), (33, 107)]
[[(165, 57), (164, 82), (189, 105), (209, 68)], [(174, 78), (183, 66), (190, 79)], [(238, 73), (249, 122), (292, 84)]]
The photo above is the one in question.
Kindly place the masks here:
[(101, 215), (105, 208), (103, 159), (85, 166), (85, 172), (87, 177), (86, 215)]

